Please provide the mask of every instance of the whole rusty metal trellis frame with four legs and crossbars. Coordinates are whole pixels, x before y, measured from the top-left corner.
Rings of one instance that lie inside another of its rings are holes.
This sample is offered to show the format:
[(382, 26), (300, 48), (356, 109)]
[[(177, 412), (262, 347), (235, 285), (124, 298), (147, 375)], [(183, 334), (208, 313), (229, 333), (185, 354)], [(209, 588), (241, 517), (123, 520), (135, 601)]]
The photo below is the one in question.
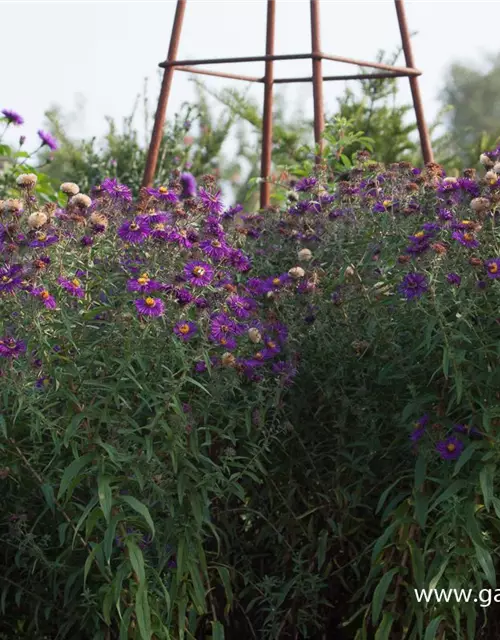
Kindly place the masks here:
[[(146, 160), (146, 168), (144, 171), (143, 186), (149, 187), (153, 183), (156, 165), (158, 163), (158, 155), (160, 151), (160, 143), (163, 135), (163, 127), (165, 125), (165, 116), (167, 110), (168, 98), (172, 86), (172, 78), (174, 71), (185, 71), (189, 73), (215, 76), (218, 78), (230, 78), (232, 80), (243, 80), (246, 82), (256, 82), (264, 85), (264, 114), (262, 121), (262, 156), (261, 156), (261, 191), (260, 206), (265, 209), (270, 202), (270, 183), (271, 176), (271, 153), (272, 153), (272, 108), (273, 108), (273, 86), (275, 84), (286, 84), (296, 82), (312, 82), (313, 99), (314, 99), (314, 140), (319, 149), (317, 161), (321, 160), (323, 151), (323, 130), (324, 130), (324, 109), (323, 109), (323, 82), (330, 80), (358, 80), (373, 78), (398, 78), (407, 77), (410, 81), (410, 89), (413, 99), (413, 107), (417, 120), (418, 132), (420, 136), (420, 145), (424, 162), (432, 162), (432, 148), (430, 143), (429, 131), (424, 119), (422, 100), (420, 96), (420, 88), (418, 85), (418, 76), (421, 71), (415, 68), (413, 61), (413, 53), (410, 44), (410, 34), (406, 21), (406, 15), (403, 0), (394, 0), (396, 5), (396, 13), (398, 18), (403, 52), (405, 56), (405, 67), (384, 64), (381, 62), (367, 62), (364, 60), (355, 60), (353, 58), (344, 58), (334, 56), (321, 51), (320, 44), (320, 18), (319, 4), (320, 0), (309, 0), (311, 10), (311, 53), (296, 53), (276, 55), (274, 53), (275, 27), (276, 27), (276, 0), (267, 0), (267, 24), (266, 24), (266, 53), (260, 56), (246, 56), (236, 58), (212, 58), (199, 60), (177, 60), (177, 50), (179, 48), (180, 34), (187, 0), (177, 0), (177, 8), (175, 11), (174, 25), (170, 38), (170, 47), (168, 57), (165, 62), (160, 63), (165, 71), (156, 109), (153, 132), (151, 135), (151, 143), (149, 146), (148, 157)], [(301, 78), (275, 78), (274, 63), (280, 60), (311, 60), (312, 76)], [(376, 69), (378, 73), (356, 73), (350, 75), (334, 75), (324, 76), (322, 72), (323, 60), (332, 60), (334, 62), (344, 62), (353, 64), (358, 67), (367, 69)], [(265, 62), (265, 73), (263, 77), (248, 76), (222, 71), (214, 71), (211, 69), (199, 69), (199, 65), (204, 64), (231, 64), (236, 62)]]

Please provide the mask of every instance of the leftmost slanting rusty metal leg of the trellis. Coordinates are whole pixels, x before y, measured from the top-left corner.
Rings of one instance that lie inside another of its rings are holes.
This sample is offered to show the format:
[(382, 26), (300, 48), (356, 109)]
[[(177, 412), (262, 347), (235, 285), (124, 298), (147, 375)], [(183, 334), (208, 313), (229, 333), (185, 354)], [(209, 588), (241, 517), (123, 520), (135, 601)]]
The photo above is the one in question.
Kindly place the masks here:
[[(177, 49), (179, 48), (179, 39), (181, 36), (182, 22), (186, 11), (186, 0), (177, 0), (177, 8), (175, 10), (174, 26), (172, 27), (172, 35), (170, 36), (170, 46), (168, 48), (168, 59), (175, 60), (177, 57)], [(151, 134), (151, 143), (149, 145), (148, 157), (146, 160), (146, 168), (142, 180), (143, 187), (150, 187), (153, 184), (156, 165), (158, 163), (158, 155), (160, 153), (160, 144), (163, 136), (163, 127), (165, 125), (165, 115), (167, 112), (168, 96), (172, 86), (172, 78), (174, 75), (173, 66), (165, 69), (163, 80), (161, 83), (160, 97), (156, 108), (155, 122), (153, 125), (153, 133)]]

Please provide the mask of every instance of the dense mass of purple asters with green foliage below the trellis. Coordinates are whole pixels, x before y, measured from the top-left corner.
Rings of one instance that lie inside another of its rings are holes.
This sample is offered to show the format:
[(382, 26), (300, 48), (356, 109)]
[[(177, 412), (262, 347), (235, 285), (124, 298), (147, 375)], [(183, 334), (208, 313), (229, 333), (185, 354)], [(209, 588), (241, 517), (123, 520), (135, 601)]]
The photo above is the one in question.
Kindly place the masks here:
[(250, 214), (12, 172), (4, 638), (496, 637), (414, 589), (496, 587), (500, 148), (334, 160)]

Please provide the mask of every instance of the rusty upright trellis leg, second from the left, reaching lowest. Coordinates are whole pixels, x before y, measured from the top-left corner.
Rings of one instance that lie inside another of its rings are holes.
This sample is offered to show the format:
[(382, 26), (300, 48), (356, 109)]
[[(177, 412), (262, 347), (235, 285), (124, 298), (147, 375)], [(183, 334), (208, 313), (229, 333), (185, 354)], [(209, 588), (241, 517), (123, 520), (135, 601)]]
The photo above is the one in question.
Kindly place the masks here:
[[(266, 56), (274, 56), (274, 32), (276, 25), (276, 0), (267, 0)], [(271, 162), (273, 149), (273, 60), (266, 61), (264, 76), (264, 115), (262, 119), (262, 156), (260, 160), (260, 208), (269, 206), (271, 196)]]

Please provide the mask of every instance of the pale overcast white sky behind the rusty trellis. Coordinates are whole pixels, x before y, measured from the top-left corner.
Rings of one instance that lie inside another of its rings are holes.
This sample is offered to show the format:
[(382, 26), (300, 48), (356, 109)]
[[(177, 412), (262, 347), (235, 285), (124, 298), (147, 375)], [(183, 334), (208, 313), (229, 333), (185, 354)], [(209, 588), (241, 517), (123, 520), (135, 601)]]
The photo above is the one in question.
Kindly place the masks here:
[[(157, 64), (166, 58), (175, 0), (137, 2), (0, 2), (0, 108), (25, 118), (24, 132), (36, 136), (44, 111), (53, 103), (71, 111), (78, 94), (85, 117), (75, 137), (101, 135), (104, 116), (120, 120), (130, 113), (144, 78), (150, 78), (152, 102), (158, 92)], [(375, 60), (379, 48), (392, 52), (400, 44), (392, 0), (322, 0), (322, 49), (331, 54)], [(406, 0), (415, 63), (428, 121), (434, 119), (437, 94), (452, 61), (480, 62), (498, 47), (500, 1)], [(248, 56), (264, 53), (265, 0), (187, 0), (179, 58)], [(277, 0), (276, 53), (310, 51), (308, 0)], [(401, 59), (401, 64), (404, 60)], [(310, 75), (310, 61), (278, 62), (276, 76)], [(324, 62), (325, 74), (356, 67)], [(263, 63), (218, 66), (244, 74), (263, 74)], [(194, 95), (190, 74), (176, 72), (168, 115)], [(200, 76), (197, 76), (198, 78)], [(246, 83), (210, 78), (213, 88), (247, 87)], [(410, 100), (408, 80), (399, 80), (402, 98)], [(336, 105), (344, 82), (325, 83), (327, 111)], [(290, 105), (299, 96), (312, 113), (311, 87), (289, 85)], [(251, 94), (262, 95), (262, 86)], [(139, 128), (141, 123), (138, 122)]]

